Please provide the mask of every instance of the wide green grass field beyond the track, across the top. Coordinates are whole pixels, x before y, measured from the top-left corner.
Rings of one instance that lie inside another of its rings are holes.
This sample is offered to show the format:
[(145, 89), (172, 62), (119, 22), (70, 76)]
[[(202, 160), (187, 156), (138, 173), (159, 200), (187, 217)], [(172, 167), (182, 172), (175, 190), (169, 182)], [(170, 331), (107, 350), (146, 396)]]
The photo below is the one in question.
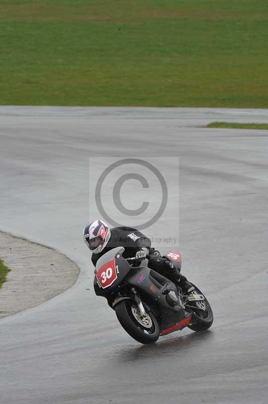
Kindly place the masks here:
[(267, 0), (0, 0), (0, 104), (268, 108)]

